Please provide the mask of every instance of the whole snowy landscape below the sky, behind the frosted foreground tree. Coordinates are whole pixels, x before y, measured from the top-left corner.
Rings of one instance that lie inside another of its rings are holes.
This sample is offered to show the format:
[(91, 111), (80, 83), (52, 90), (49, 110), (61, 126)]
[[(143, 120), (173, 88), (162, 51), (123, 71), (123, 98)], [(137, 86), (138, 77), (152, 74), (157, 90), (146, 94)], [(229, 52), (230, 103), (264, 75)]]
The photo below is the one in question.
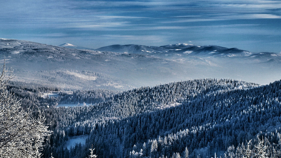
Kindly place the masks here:
[(0, 46), (16, 75), (7, 90), (23, 109), (44, 111), (53, 131), (42, 158), (85, 158), (92, 145), (107, 158), (258, 157), (261, 141), (269, 157), (281, 153), (280, 54), (191, 44)]

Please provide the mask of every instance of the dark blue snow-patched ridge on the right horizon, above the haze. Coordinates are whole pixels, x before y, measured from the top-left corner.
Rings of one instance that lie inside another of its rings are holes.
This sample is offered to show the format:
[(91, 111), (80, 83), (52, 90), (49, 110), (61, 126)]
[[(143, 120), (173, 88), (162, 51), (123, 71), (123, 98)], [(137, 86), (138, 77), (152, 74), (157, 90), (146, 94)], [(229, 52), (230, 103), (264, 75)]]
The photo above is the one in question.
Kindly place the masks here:
[[(268, 59), (268, 55), (271, 54), (281, 59), (281, 54), (279, 53), (269, 53), (261, 52), (255, 53), (246, 50), (241, 50), (238, 48), (225, 48), (221, 46), (208, 45), (208, 46), (196, 46), (193, 44), (170, 44), (165, 46), (142, 46), (142, 45), (111, 45), (105, 46), (98, 49), (97, 51), (111, 51), (117, 53), (135, 53), (135, 54), (144, 54), (151, 55), (154, 57), (165, 57), (165, 58), (178, 58), (189, 57), (189, 56), (198, 56), (198, 57), (227, 57), (227, 58), (260, 58), (263, 56)], [(262, 61), (264, 62), (264, 60)]]

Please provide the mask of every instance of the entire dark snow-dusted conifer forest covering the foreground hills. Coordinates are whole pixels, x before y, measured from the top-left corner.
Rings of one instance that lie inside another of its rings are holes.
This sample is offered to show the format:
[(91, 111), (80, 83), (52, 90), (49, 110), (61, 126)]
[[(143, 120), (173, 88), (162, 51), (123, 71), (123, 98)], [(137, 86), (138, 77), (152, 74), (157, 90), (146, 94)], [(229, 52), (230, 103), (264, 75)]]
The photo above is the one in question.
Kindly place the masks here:
[[(15, 84), (10, 89), (23, 101), (30, 94), (31, 103), (52, 105), (40, 107), (53, 130), (43, 157), (53, 153), (55, 158), (84, 158), (92, 145), (98, 157), (110, 158), (259, 157), (259, 151), (268, 157), (281, 156), (281, 80), (257, 85), (198, 79), (124, 92), (66, 92)], [(51, 92), (58, 96), (35, 95)], [(60, 103), (80, 106), (55, 107)], [(85, 143), (67, 145), (77, 137), (85, 137)]]

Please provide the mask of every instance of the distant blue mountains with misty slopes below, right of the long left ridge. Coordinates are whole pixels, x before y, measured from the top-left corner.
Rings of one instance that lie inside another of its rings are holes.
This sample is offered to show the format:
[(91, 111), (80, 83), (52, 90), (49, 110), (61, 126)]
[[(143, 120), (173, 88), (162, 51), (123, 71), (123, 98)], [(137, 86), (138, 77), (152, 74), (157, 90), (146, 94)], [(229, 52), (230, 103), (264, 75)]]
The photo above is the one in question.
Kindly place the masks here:
[[(231, 77), (266, 84), (278, 80), (281, 54), (271, 52), (251, 52), (238, 48), (216, 45), (197, 46), (193, 44), (169, 44), (165, 46), (110, 45), (93, 49), (117, 53), (134, 53), (161, 59), (173, 60), (189, 65), (190, 69), (203, 66), (203, 74), (188, 72), (191, 78)], [(186, 70), (186, 69), (185, 69)], [(212, 71), (214, 73), (212, 73)], [(195, 75), (196, 74), (196, 75)], [(208, 76), (209, 75), (209, 76)], [(267, 77), (265, 77), (267, 76)]]

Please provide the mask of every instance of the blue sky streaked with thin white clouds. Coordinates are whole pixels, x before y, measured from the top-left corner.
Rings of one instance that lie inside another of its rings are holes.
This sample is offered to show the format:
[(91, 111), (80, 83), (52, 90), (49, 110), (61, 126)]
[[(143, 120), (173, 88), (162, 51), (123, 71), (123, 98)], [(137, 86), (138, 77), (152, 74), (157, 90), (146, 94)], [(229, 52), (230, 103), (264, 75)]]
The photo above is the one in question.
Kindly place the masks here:
[(188, 43), (281, 53), (281, 1), (3, 0), (0, 38), (87, 48)]

